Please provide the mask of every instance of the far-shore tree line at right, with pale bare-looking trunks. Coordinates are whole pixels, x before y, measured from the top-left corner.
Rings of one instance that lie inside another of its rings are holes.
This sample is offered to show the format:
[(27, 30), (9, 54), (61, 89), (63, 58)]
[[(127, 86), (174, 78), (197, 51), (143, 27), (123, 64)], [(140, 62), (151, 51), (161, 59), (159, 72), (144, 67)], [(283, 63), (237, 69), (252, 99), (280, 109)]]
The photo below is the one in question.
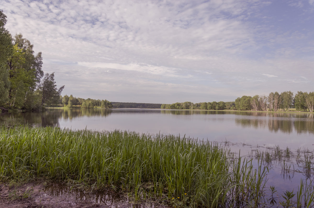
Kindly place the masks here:
[(240, 110), (240, 111), (290, 111), (295, 108), (297, 111), (313, 112), (314, 91), (298, 91), (295, 96), (291, 91), (282, 93), (271, 92), (268, 96), (255, 95), (238, 97), (234, 102), (213, 101), (213, 102), (176, 102), (162, 104), (162, 109), (200, 109), (200, 110)]

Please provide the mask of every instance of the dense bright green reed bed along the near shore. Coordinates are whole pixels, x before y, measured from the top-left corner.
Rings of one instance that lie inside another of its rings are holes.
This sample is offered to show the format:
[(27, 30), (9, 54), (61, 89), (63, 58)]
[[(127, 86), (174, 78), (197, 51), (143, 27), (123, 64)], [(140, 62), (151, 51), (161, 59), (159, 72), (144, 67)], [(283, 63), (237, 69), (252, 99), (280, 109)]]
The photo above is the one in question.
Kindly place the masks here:
[(180, 136), (0, 127), (0, 180), (48, 176), (136, 200), (246, 207), (262, 203), (267, 172), (218, 144)]

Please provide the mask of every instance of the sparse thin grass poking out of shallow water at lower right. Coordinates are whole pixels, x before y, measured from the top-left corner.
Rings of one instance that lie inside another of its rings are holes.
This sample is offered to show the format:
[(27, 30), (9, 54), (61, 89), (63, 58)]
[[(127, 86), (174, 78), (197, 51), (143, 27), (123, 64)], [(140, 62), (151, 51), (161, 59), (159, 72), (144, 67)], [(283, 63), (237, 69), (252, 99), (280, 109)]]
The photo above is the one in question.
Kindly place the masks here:
[[(265, 155), (264, 158), (263, 155)], [(270, 198), (267, 199), (269, 205), (277, 204), (278, 201), (281, 207), (314, 207), (313, 151), (299, 148), (293, 152), (288, 147), (281, 150), (279, 146), (275, 146), (267, 148), (266, 151), (252, 150), (249, 157), (260, 159), (269, 168), (272, 168), (269, 164), (281, 164), (281, 175), (286, 180), (291, 180), (295, 173), (303, 175), (304, 179), (300, 180), (300, 186), (296, 189), (296, 194), (293, 193), (295, 190), (292, 189), (286, 190), (283, 194), (275, 197), (274, 193), (277, 191), (274, 186), (270, 186), (270, 192), (268, 192)]]

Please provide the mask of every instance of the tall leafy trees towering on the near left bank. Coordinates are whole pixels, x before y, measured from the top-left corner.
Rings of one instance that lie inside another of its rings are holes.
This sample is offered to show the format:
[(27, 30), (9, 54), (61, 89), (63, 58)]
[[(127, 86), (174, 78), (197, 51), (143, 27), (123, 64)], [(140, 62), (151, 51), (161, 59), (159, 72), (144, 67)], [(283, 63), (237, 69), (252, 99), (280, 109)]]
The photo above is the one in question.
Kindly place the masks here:
[(5, 29), (7, 16), (0, 10), (0, 107), (39, 110), (57, 105), (64, 85), (57, 88), (54, 73), (42, 71), (41, 52), (22, 34)]

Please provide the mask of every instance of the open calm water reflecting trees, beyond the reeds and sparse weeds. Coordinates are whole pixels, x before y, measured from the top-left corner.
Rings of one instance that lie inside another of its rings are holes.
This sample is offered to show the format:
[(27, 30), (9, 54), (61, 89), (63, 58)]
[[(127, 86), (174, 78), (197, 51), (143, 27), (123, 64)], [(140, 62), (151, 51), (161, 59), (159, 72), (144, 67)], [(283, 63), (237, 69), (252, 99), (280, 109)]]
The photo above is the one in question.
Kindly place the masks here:
[(0, 123), (29, 123), (71, 129), (130, 130), (211, 141), (230, 141), (291, 149), (313, 149), (310, 113), (222, 112), (160, 109), (51, 109), (42, 113), (4, 113)]

